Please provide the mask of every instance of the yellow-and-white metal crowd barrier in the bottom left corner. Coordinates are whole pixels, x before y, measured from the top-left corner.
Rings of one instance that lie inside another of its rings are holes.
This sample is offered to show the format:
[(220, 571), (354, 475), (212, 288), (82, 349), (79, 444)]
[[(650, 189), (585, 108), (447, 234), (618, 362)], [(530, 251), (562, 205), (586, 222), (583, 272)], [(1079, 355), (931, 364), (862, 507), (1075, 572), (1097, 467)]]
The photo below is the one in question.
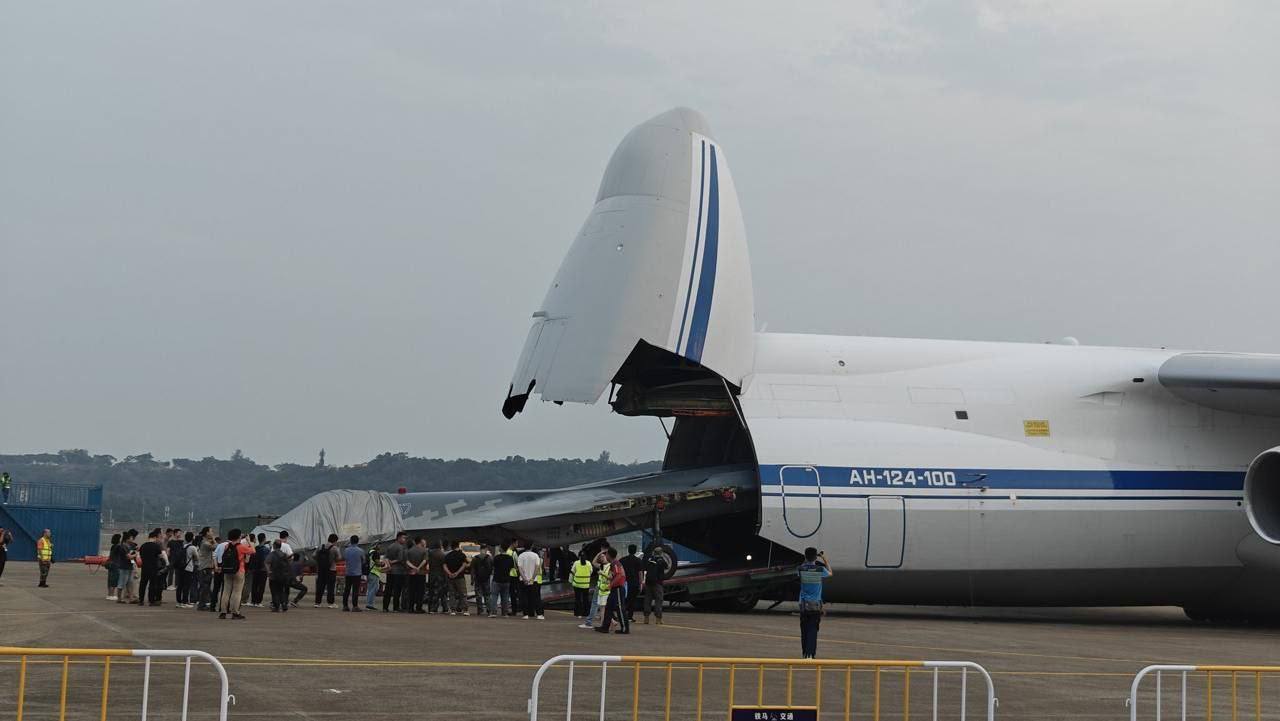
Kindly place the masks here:
[[(18, 693), (17, 704), (18, 715), (17, 721), (23, 720), (23, 713), (26, 711), (24, 706), (27, 703), (27, 676), (28, 666), (36, 666), (40, 663), (56, 663), (61, 666), (61, 680), (59, 684), (58, 693), (58, 718), (59, 721), (67, 720), (67, 695), (68, 685), (70, 680), (70, 667), (72, 658), (82, 657), (101, 657), (102, 658), (102, 690), (100, 698), (100, 718), (106, 721), (106, 712), (109, 708), (110, 689), (111, 689), (111, 660), (120, 657), (142, 658), (142, 721), (147, 718), (147, 703), (151, 695), (151, 660), (152, 658), (180, 658), (183, 660), (183, 684), (182, 684), (182, 721), (187, 721), (187, 708), (191, 702), (191, 661), (198, 658), (207, 662), (210, 666), (218, 671), (218, 680), (220, 684), (218, 693), (218, 721), (227, 721), (227, 706), (228, 703), (236, 703), (236, 697), (230, 694), (229, 685), (227, 681), (227, 668), (223, 667), (212, 656), (205, 653), (204, 651), (161, 651), (152, 648), (19, 648), (19, 647), (0, 647), (0, 657), (18, 657)], [(32, 657), (51, 657), (55, 661), (44, 660), (31, 660)], [(77, 661), (81, 663), (81, 661)], [(116, 715), (119, 709), (115, 709)]]

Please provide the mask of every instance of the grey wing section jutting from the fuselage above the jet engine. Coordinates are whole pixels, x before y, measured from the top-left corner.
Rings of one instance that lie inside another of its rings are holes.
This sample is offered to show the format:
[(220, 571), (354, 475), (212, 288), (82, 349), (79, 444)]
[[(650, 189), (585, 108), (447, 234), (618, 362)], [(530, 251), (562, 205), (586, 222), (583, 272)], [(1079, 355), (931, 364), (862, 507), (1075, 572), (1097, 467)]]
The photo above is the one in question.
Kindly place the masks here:
[(1160, 366), (1158, 378), (1170, 393), (1192, 403), (1280, 416), (1280, 356), (1179, 353)]

